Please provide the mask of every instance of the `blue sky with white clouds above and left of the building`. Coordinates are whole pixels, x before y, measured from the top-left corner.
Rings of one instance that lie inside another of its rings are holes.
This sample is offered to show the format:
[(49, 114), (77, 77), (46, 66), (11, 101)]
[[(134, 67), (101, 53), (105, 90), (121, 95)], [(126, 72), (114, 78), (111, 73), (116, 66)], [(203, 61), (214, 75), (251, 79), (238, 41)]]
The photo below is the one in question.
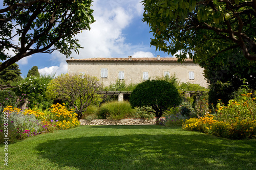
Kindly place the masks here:
[[(142, 22), (142, 0), (95, 0), (92, 3), (96, 22), (91, 30), (84, 30), (76, 36), (82, 49), (75, 59), (93, 57), (172, 57), (163, 52), (156, 52), (150, 46), (152, 33), (150, 27)], [(1, 3), (1, 6), (3, 4)], [(1, 7), (2, 8), (2, 7)], [(69, 59), (69, 58), (68, 58)], [(66, 56), (52, 54), (35, 54), (17, 62), (26, 77), (28, 70), (37, 66), (42, 75), (56, 75), (67, 72)]]

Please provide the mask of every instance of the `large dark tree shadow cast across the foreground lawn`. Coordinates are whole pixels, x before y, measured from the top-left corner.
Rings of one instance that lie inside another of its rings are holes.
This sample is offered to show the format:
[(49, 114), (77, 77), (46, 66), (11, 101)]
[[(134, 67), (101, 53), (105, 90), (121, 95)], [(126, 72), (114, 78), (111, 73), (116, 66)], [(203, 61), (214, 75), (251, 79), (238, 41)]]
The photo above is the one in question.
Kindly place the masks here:
[(255, 141), (200, 133), (85, 136), (50, 140), (36, 150), (59, 169), (254, 169), (256, 165)]

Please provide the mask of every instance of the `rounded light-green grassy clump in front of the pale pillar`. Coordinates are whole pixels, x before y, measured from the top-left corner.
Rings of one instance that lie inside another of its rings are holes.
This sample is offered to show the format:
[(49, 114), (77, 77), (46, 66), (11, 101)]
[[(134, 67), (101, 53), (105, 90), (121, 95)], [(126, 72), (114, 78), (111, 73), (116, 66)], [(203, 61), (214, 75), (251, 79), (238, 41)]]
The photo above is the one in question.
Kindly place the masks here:
[(129, 102), (106, 102), (103, 103), (99, 109), (100, 118), (108, 119), (122, 119), (133, 112)]

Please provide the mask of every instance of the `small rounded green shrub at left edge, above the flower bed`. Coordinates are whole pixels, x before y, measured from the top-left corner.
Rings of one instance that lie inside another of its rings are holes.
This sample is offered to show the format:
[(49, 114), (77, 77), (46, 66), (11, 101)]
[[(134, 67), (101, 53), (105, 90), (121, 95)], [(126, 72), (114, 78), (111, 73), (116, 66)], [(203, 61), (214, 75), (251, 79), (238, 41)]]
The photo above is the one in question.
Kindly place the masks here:
[(11, 90), (0, 90), (0, 106), (14, 106), (16, 94)]

